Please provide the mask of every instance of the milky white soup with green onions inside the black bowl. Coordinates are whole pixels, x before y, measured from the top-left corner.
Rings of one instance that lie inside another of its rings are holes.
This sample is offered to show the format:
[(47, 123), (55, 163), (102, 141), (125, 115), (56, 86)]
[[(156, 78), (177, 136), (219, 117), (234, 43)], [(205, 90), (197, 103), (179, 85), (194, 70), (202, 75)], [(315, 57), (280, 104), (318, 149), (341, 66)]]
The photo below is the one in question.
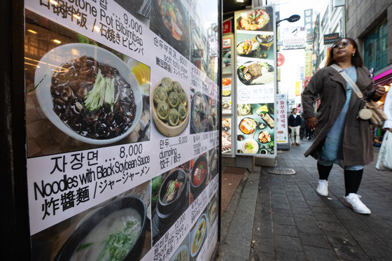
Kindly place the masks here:
[(123, 260), (141, 233), (141, 216), (134, 209), (111, 213), (80, 242), (71, 261)]

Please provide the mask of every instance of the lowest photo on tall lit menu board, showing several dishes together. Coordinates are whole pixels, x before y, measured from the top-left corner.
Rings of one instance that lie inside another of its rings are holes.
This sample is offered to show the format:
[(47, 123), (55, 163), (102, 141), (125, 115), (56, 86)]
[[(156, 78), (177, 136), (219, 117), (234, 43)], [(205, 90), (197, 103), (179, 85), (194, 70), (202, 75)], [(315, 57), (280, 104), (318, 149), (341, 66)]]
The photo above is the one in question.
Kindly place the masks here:
[(237, 153), (274, 154), (274, 104), (238, 104)]

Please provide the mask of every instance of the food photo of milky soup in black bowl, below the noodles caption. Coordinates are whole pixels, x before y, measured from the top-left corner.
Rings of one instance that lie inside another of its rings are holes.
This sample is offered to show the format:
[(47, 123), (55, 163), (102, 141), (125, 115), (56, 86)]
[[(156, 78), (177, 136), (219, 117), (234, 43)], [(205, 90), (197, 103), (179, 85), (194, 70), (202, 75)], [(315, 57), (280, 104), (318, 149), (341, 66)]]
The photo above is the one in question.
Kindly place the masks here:
[(32, 260), (139, 260), (151, 250), (150, 204), (148, 181), (34, 234)]

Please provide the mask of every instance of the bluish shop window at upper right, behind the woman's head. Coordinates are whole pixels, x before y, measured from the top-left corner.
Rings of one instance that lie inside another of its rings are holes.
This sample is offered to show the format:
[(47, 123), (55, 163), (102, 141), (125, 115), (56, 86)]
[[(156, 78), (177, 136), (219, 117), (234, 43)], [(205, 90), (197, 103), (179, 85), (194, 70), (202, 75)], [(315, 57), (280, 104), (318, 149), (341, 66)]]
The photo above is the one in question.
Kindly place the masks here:
[(384, 19), (364, 39), (365, 66), (374, 71), (383, 69), (388, 65), (388, 27)]

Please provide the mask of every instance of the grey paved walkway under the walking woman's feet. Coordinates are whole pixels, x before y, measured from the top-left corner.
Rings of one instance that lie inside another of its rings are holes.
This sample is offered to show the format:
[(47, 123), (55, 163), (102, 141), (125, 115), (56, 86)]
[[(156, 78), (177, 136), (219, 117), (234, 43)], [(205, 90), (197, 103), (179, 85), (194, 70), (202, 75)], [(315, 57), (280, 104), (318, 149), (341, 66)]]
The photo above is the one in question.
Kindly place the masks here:
[[(316, 160), (303, 156), (310, 144), (304, 140), (276, 157), (277, 167), (296, 174), (269, 174), (261, 168), (249, 175), (231, 224), (225, 224), (223, 213), (218, 260), (392, 260), (392, 173), (375, 169), (374, 153), (358, 191), (372, 214), (358, 214), (342, 204), (344, 176), (337, 165), (328, 178), (328, 197), (316, 194)], [(252, 186), (255, 177), (258, 186)], [(253, 222), (251, 235), (248, 220)]]

